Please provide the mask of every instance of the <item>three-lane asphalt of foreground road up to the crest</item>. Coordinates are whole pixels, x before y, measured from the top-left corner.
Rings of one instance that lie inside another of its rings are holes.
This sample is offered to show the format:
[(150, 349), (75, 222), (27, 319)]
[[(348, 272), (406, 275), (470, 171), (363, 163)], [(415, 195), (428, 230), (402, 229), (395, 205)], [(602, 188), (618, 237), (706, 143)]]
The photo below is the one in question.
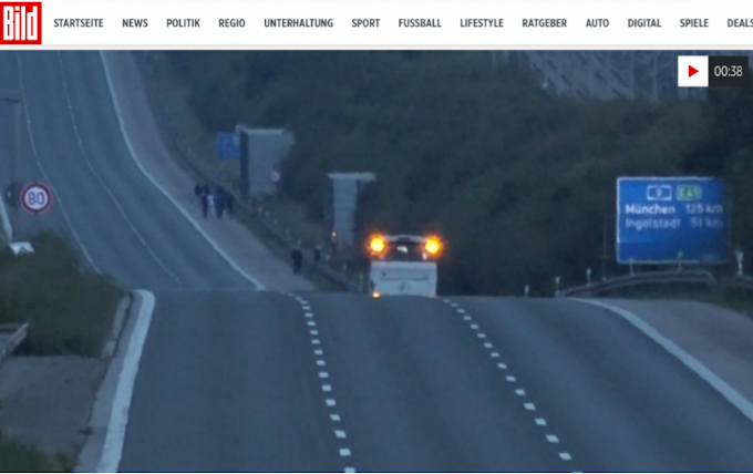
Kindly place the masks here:
[[(753, 424), (599, 308), (453, 299), (460, 313), (439, 299), (307, 293), (305, 309), (276, 292), (215, 297), (157, 295), (122, 471), (753, 467)], [(203, 337), (223, 343), (184, 349)]]

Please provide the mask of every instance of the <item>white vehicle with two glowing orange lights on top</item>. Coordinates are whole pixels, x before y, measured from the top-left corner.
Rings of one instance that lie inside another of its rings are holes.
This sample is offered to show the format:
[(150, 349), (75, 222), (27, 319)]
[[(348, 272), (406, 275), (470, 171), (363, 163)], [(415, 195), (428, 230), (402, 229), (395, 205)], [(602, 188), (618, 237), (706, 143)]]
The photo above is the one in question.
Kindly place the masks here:
[(372, 235), (368, 243), (371, 296), (435, 297), (442, 249), (436, 236)]

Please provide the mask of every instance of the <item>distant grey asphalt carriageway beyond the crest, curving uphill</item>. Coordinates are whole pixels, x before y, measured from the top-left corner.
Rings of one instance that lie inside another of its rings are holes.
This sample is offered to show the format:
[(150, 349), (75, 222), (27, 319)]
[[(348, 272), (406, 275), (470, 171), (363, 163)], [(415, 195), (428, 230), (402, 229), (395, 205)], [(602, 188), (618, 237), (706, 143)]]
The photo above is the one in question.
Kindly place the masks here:
[(37, 148), (24, 131), (18, 174), (59, 195), (40, 226), (72, 237), (64, 207), (96, 267), (132, 288), (249, 288), (133, 162), (97, 52), (0, 53), (0, 87), (19, 87), (18, 58)]

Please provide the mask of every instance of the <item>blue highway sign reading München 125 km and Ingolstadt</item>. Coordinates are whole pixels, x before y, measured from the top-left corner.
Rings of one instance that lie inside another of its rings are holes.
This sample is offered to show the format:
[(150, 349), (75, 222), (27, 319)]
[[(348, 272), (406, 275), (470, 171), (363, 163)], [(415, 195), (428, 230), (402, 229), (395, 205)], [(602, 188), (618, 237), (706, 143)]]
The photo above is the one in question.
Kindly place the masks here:
[(617, 179), (619, 264), (728, 261), (729, 215), (721, 179)]

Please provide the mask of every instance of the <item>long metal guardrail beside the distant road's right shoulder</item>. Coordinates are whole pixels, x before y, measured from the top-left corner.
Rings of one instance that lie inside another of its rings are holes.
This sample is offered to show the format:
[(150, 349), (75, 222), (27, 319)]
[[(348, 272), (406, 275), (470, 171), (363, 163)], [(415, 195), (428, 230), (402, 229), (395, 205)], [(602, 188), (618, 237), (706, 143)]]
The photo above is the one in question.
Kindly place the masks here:
[[(148, 52), (136, 52), (136, 54), (141, 55), (141, 61), (138, 61), (140, 63), (142, 64), (149, 63), (147, 58)], [(148, 73), (149, 71), (146, 72)], [(169, 112), (167, 111), (164, 99), (162, 96), (154, 94), (154, 91), (149, 86), (145, 87), (145, 90), (147, 96), (149, 97), (149, 102), (152, 104), (157, 105), (156, 107), (157, 110), (153, 110), (153, 113), (157, 115), (158, 118), (157, 122), (158, 124), (162, 125), (161, 127), (165, 132), (166, 137), (171, 142), (173, 142), (173, 146), (171, 148), (177, 152), (176, 154), (178, 155), (180, 161), (188, 167), (194, 177), (197, 177), (200, 181), (206, 182), (213, 186), (221, 186), (223, 188), (228, 189), (228, 192), (231, 193), (233, 196), (235, 197), (235, 202), (238, 207), (240, 207), (249, 216), (254, 217), (256, 221), (258, 221), (267, 230), (267, 234), (277, 241), (278, 245), (289, 250), (292, 250), (292, 248), (295, 247), (295, 239), (291, 238), (291, 236), (282, 233), (279, 229), (279, 227), (277, 227), (274, 224), (275, 221), (271, 218), (269, 218), (267, 214), (262, 213), (260, 208), (255, 209), (252, 202), (243, 199), (237, 189), (234, 188), (231, 183), (221, 183), (216, 176), (213, 176), (212, 172), (205, 169), (203, 166), (199, 165), (202, 161), (196, 156), (194, 150), (190, 146), (188, 146), (176, 132), (175, 122), (169, 116)], [(341, 287), (347, 291), (351, 292), (363, 291), (362, 285), (349, 278), (345, 274), (329, 268), (327, 264), (314, 262), (312, 249), (301, 250), (303, 253), (303, 261), (309, 266), (309, 268), (319, 274), (321, 277), (326, 278), (327, 280), (331, 281), (332, 284)]]

